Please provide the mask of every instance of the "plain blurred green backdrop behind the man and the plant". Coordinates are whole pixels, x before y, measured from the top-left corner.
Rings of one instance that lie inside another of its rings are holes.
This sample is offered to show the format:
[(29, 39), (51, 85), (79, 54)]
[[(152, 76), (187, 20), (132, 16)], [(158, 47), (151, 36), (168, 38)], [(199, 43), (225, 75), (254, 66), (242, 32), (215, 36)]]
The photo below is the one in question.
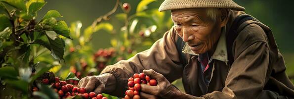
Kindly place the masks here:
[[(130, 13), (135, 13), (135, 8), (138, 2), (141, 0), (122, 0), (121, 2), (128, 2), (132, 6)], [(154, 3), (159, 7), (159, 0)], [(293, 0), (234, 0), (239, 5), (246, 8), (246, 13), (251, 14), (262, 23), (269, 26), (275, 36), (276, 43), (280, 49), (280, 52), (285, 58), (285, 63), (287, 65), (288, 75), (294, 75), (294, 33), (293, 33), (293, 23), (294, 23), (294, 13), (293, 13)], [(47, 0), (47, 4), (39, 11), (40, 19), (48, 10), (55, 9), (58, 10), (64, 17), (68, 24), (75, 22), (77, 20), (82, 21), (82, 30), (91, 25), (91, 23), (99, 16), (110, 11), (115, 5), (116, 0)], [(122, 9), (118, 8), (116, 13), (122, 13)], [(113, 25), (120, 25), (122, 23), (116, 24), (116, 21), (109, 20)], [(168, 31), (168, 29), (167, 29)], [(162, 33), (161, 35), (163, 35)], [(103, 31), (98, 31), (98, 33), (93, 34), (92, 45), (94, 50), (100, 48), (109, 48), (110, 45), (110, 35), (103, 33)], [(99, 45), (99, 46), (95, 46)]]

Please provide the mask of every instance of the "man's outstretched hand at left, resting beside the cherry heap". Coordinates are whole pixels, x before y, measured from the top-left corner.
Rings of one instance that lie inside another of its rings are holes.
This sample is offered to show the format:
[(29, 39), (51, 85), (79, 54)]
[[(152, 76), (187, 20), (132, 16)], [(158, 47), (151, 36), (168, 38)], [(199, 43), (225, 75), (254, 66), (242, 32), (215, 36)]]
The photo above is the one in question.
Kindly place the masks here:
[(116, 87), (116, 78), (110, 73), (87, 76), (80, 80), (78, 87), (84, 87), (87, 92), (95, 92), (96, 94), (110, 93)]

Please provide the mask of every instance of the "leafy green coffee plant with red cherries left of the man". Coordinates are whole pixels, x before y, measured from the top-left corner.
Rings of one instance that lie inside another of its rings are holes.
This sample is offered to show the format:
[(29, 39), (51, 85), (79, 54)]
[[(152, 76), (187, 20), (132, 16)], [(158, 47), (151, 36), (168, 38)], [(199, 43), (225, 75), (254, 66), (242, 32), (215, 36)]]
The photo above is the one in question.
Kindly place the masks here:
[[(81, 21), (68, 25), (57, 10), (37, 20), (44, 0), (0, 0), (0, 99), (118, 99), (73, 90), (79, 79), (99, 75), (105, 66), (161, 38), (172, 22), (168, 12), (158, 11), (160, 3), (142, 0), (136, 6), (117, 0), (112, 10), (81, 30)], [(111, 35), (111, 47), (93, 50), (93, 34), (101, 32)]]

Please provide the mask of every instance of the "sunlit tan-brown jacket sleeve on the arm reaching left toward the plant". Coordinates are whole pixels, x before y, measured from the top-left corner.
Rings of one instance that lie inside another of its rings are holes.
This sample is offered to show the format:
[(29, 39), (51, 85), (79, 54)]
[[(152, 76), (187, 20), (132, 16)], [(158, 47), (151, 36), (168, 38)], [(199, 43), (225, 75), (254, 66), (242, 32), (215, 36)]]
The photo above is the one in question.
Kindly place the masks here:
[(116, 77), (116, 89), (110, 94), (122, 97), (127, 89), (127, 79), (144, 69), (153, 69), (163, 74), (170, 82), (179, 79), (182, 74), (182, 66), (179, 65), (180, 60), (175, 45), (176, 35), (176, 32), (171, 28), (150, 49), (139, 52), (127, 60), (121, 60), (114, 65), (107, 66), (101, 74), (111, 73)]

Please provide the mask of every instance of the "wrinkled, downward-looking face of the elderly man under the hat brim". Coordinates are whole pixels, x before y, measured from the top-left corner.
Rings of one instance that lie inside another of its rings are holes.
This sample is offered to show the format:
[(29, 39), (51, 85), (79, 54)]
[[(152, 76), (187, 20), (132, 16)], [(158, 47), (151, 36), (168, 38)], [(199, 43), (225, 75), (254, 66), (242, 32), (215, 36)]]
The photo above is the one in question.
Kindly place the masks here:
[(177, 34), (196, 54), (214, 50), (221, 33), (221, 20), (213, 21), (205, 8), (189, 8), (171, 11), (171, 19)]

